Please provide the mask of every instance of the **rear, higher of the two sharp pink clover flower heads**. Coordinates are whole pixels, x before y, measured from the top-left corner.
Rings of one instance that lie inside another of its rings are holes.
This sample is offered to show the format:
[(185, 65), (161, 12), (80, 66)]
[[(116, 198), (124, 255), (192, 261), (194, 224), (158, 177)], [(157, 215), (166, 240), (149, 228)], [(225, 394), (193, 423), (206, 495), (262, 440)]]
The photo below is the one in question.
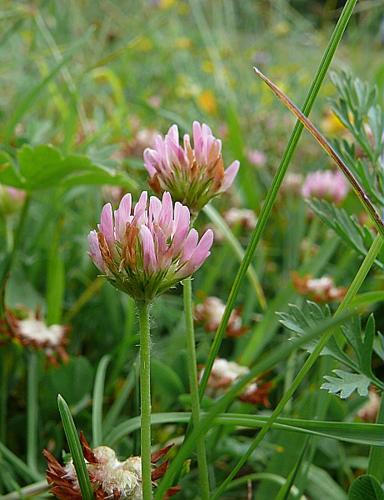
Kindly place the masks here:
[(179, 130), (172, 125), (163, 138), (157, 136), (154, 149), (144, 151), (144, 164), (156, 193), (169, 191), (176, 201), (188, 205), (196, 214), (209, 200), (227, 191), (239, 170), (236, 160), (224, 169), (221, 141), (206, 124), (193, 122), (193, 145), (188, 134), (183, 145)]

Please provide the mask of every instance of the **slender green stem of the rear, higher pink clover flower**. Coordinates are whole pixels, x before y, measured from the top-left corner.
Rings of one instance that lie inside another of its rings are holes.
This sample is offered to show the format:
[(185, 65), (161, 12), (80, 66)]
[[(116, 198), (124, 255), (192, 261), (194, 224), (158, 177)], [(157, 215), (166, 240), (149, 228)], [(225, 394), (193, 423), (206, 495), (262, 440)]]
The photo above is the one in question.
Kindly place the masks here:
[[(197, 366), (195, 351), (195, 331), (193, 327), (192, 312), (192, 280), (187, 278), (183, 281), (184, 314), (187, 337), (187, 359), (189, 387), (192, 404), (192, 423), (196, 427), (200, 420), (199, 386), (197, 382)], [(203, 500), (209, 499), (209, 478), (207, 453), (205, 450), (204, 437), (200, 437), (196, 443), (197, 465), (199, 469), (200, 495)]]

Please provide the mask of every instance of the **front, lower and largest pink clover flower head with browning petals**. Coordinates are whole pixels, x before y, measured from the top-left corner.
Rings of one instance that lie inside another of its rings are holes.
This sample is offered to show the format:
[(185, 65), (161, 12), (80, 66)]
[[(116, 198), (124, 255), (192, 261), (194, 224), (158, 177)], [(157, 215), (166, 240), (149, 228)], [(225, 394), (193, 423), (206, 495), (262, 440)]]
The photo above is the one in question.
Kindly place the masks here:
[(213, 232), (200, 238), (188, 207), (141, 193), (135, 206), (126, 194), (117, 210), (104, 205), (98, 229), (88, 236), (96, 267), (120, 290), (150, 301), (193, 274), (210, 254)]

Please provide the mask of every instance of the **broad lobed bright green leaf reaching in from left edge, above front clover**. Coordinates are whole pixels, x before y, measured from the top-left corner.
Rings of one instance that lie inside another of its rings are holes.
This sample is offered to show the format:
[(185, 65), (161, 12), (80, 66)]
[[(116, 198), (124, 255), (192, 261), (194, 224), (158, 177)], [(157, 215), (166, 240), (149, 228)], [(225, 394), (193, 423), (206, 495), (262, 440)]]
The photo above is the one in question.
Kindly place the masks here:
[[(1, 160), (1, 158), (0, 158)], [(0, 170), (0, 182), (26, 191), (52, 186), (66, 188), (81, 184), (115, 184), (136, 190), (124, 172), (92, 162), (87, 156), (67, 155), (51, 145), (24, 145), (17, 152), (18, 169), (9, 159)]]

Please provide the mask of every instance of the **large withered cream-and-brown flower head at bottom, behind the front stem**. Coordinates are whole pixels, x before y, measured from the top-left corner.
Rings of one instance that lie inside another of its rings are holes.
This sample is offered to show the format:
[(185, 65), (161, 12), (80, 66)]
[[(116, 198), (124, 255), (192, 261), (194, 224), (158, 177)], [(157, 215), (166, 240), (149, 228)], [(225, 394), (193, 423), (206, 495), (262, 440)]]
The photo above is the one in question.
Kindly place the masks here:
[[(129, 457), (121, 462), (116, 457), (115, 451), (108, 446), (92, 449), (83, 433), (80, 434), (80, 441), (96, 500), (142, 499), (140, 457)], [(152, 464), (157, 464), (171, 447), (172, 445), (152, 453)], [(72, 460), (66, 465), (61, 465), (48, 450), (44, 450), (43, 454), (48, 463), (47, 481), (51, 485), (51, 493), (59, 500), (81, 500), (80, 486)], [(152, 470), (154, 486), (165, 474), (167, 467), (167, 460), (154, 466)], [(178, 486), (170, 488), (166, 498), (175, 495), (179, 490)]]

